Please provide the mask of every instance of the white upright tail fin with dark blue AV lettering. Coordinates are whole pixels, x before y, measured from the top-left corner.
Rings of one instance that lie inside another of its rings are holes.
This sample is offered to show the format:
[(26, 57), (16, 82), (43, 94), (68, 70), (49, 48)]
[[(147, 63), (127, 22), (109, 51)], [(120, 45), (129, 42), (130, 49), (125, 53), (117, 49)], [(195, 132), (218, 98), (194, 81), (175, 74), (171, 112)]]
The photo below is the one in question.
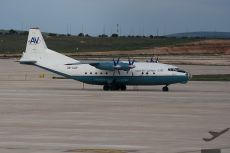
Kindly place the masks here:
[(78, 61), (47, 48), (39, 28), (31, 28), (29, 30), (26, 51), (23, 52), (20, 63), (53, 65), (71, 62)]

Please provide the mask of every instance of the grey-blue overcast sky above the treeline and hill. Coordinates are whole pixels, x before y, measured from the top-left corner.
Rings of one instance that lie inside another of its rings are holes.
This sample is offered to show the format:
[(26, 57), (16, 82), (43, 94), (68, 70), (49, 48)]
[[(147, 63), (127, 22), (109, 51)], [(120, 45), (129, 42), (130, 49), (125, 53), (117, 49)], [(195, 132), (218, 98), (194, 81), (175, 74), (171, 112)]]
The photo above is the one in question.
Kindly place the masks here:
[(230, 32), (230, 0), (0, 0), (0, 29), (159, 35)]

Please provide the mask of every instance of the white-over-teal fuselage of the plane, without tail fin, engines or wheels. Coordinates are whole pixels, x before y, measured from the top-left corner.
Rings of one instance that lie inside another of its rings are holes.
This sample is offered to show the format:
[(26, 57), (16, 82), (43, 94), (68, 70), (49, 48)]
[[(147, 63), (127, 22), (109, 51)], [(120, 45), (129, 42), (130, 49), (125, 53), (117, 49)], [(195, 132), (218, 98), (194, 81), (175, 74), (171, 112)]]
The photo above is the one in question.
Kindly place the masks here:
[[(123, 61), (125, 63), (125, 61)], [(50, 60), (40, 60), (35, 65), (54, 73), (88, 84), (105, 85), (119, 83), (125, 85), (169, 85), (186, 83), (189, 74), (186, 72), (169, 71), (176, 66), (162, 63), (135, 62), (135, 68), (129, 71), (100, 70), (90, 64), (65, 65)]]

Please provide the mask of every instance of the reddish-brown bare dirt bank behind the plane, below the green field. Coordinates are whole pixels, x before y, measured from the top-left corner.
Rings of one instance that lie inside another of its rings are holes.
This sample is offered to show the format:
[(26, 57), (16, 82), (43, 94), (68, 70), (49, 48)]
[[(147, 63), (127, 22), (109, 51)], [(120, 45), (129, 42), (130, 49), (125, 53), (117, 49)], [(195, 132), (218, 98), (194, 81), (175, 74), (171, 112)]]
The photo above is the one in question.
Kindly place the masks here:
[(70, 53), (71, 56), (148, 56), (148, 55), (229, 55), (230, 40), (201, 40), (177, 46), (154, 47), (133, 51), (102, 51)]

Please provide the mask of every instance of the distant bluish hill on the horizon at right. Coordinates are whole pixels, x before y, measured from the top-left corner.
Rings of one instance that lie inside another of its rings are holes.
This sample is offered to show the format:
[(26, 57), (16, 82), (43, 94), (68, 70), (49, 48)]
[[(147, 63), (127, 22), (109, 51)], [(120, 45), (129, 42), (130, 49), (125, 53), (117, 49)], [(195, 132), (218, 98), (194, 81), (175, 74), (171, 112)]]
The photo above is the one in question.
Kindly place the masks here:
[(209, 31), (200, 31), (200, 32), (185, 32), (185, 33), (175, 33), (166, 35), (166, 37), (201, 37), (201, 38), (222, 38), (230, 39), (230, 32), (209, 32)]

